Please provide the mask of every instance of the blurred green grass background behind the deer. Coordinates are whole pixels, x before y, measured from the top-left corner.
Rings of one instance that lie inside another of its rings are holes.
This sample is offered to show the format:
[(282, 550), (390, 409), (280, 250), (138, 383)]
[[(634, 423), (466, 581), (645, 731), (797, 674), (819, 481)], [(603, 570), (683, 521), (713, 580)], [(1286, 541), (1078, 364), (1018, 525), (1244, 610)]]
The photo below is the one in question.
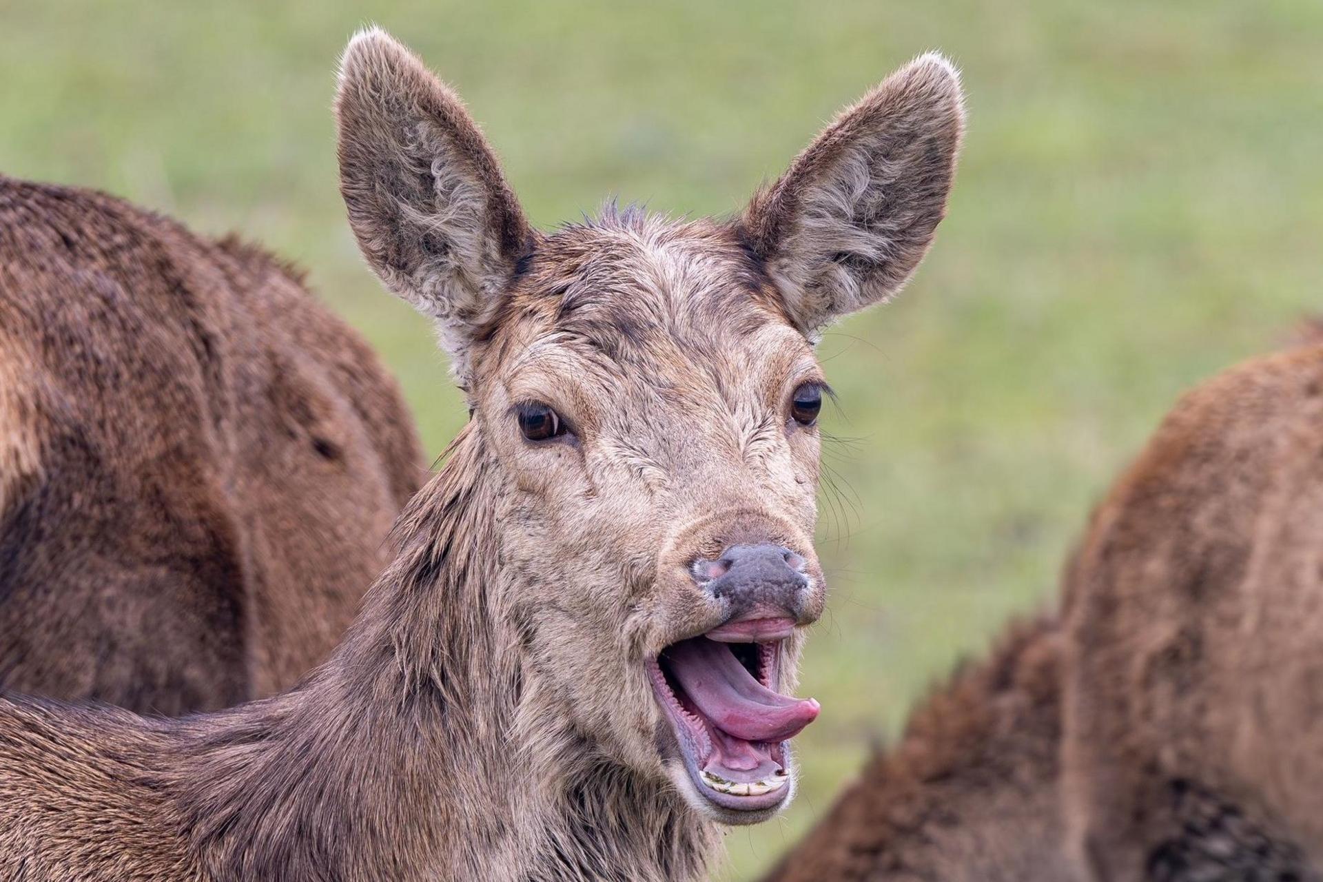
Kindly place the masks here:
[(466, 97), (533, 221), (609, 194), (730, 213), (925, 49), (963, 69), (949, 220), (893, 305), (824, 344), (831, 608), (804, 787), (728, 836), (746, 878), (871, 743), (1050, 598), (1089, 505), (1184, 387), (1274, 345), (1323, 268), (1323, 3), (13, 3), (0, 171), (239, 230), (404, 381), (429, 451), (464, 421), (421, 317), (363, 267), (336, 192), (333, 70), (376, 21)]

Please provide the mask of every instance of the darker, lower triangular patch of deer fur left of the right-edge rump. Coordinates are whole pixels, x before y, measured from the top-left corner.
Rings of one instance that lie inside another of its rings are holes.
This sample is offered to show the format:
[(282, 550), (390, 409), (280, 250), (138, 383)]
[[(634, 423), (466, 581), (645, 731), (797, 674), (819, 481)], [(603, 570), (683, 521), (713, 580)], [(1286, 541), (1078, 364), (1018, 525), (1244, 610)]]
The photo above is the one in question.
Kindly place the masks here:
[(767, 882), (1072, 882), (1061, 627), (1016, 625), (910, 717)]

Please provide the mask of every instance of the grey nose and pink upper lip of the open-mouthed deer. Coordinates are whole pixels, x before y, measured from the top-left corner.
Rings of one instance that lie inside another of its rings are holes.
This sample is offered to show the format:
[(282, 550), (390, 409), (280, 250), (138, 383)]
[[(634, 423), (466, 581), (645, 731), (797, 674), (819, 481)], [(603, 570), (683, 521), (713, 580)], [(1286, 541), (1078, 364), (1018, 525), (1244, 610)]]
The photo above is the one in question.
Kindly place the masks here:
[(695, 582), (730, 604), (730, 618), (708, 636), (773, 640), (804, 624), (810, 587), (806, 567), (803, 557), (770, 542), (732, 545), (714, 561), (695, 561)]

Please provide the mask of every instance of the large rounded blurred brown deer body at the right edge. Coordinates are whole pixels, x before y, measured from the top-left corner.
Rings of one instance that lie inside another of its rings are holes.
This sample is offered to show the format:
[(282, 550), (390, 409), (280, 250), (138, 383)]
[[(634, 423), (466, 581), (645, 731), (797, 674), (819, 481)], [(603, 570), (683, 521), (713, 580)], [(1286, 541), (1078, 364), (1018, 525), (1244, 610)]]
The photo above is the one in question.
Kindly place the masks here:
[(1323, 348), (1189, 393), (1094, 516), (1065, 780), (1098, 879), (1323, 867)]

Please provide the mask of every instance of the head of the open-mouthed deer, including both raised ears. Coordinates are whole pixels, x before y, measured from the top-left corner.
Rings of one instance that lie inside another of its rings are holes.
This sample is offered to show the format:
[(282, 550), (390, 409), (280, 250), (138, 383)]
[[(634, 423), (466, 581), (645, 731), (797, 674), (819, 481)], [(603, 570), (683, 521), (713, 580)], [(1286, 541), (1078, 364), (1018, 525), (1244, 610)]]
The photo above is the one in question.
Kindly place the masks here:
[(962, 111), (923, 57), (746, 213), (532, 230), (459, 100), (380, 30), (345, 54), (341, 192), (434, 316), (503, 475), (503, 603), (533, 690), (591, 750), (751, 822), (794, 789), (792, 686), (824, 582), (812, 341), (889, 298), (942, 217)]

